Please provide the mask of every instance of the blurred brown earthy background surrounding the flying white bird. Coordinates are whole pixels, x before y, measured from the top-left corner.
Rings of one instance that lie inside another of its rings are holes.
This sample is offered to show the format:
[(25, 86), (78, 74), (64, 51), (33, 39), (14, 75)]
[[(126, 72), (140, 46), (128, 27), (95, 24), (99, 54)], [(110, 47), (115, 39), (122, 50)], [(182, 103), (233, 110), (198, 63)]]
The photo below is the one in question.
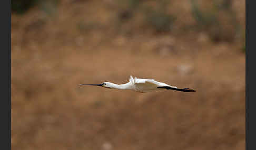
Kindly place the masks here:
[[(245, 149), (245, 1), (12, 10), (12, 149)], [(77, 86), (130, 74), (197, 92)]]

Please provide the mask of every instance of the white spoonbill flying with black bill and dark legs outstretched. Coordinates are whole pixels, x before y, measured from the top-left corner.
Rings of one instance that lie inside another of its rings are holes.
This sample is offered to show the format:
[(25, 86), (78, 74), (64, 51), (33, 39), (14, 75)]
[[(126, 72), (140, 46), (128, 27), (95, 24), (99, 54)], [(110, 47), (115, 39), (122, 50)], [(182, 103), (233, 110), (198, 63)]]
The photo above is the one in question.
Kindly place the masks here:
[(79, 84), (81, 85), (95, 85), (100, 86), (103, 88), (109, 88), (109, 89), (120, 89), (120, 90), (134, 90), (136, 92), (151, 92), (156, 89), (167, 89), (167, 90), (175, 90), (175, 91), (181, 91), (181, 92), (196, 92), (196, 90), (185, 88), (185, 89), (179, 89), (177, 87), (174, 87), (172, 85), (168, 85), (166, 83), (155, 81), (154, 79), (139, 79), (139, 78), (133, 78), (130, 76), (129, 82), (125, 84), (115, 84), (111, 82), (104, 82), (101, 84)]

